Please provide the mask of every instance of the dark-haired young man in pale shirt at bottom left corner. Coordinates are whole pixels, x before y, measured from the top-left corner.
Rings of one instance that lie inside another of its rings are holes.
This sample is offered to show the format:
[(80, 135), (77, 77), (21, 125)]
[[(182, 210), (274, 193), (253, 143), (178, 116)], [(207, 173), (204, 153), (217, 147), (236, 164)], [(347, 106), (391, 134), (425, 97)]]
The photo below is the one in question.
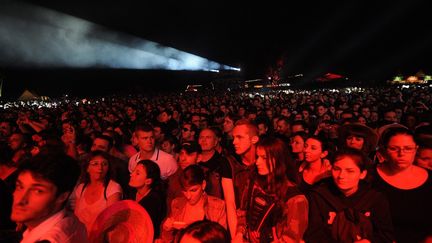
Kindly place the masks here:
[(65, 209), (80, 174), (78, 162), (64, 153), (43, 153), (19, 169), (11, 219), (27, 229), (22, 243), (88, 242), (85, 226)]

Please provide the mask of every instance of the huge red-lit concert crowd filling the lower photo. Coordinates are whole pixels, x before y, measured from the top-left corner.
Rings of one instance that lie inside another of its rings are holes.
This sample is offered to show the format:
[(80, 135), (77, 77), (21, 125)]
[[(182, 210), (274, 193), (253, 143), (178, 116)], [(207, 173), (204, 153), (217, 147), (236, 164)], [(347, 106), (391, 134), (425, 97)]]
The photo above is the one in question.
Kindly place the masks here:
[(430, 91), (2, 104), (0, 241), (431, 242)]

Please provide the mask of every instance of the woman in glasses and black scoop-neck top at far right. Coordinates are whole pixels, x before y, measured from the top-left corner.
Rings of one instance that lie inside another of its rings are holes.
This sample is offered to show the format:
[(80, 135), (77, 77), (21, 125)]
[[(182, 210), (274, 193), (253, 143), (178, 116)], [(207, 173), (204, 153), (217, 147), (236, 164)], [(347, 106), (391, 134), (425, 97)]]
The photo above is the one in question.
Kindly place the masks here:
[(432, 172), (413, 164), (418, 146), (410, 130), (388, 128), (380, 141), (384, 162), (373, 186), (389, 199), (396, 241), (420, 242), (431, 234)]

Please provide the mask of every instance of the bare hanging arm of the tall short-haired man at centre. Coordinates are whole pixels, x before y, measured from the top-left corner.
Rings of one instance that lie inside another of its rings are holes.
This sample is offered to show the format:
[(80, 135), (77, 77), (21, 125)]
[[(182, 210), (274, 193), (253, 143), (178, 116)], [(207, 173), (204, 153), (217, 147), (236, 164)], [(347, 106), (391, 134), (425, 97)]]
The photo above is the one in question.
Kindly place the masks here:
[(234, 238), (237, 231), (237, 213), (235, 204), (234, 185), (232, 179), (222, 177), (222, 189), (225, 198), (228, 228)]

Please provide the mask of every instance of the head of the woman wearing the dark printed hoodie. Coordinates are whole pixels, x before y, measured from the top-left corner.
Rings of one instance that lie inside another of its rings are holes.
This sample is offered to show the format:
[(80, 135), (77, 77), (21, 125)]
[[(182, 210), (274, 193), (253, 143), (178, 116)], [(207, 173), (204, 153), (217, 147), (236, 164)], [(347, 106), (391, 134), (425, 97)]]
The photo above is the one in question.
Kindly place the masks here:
[(355, 149), (338, 151), (332, 166), (332, 177), (338, 189), (350, 196), (358, 190), (360, 180), (367, 174), (365, 155)]

